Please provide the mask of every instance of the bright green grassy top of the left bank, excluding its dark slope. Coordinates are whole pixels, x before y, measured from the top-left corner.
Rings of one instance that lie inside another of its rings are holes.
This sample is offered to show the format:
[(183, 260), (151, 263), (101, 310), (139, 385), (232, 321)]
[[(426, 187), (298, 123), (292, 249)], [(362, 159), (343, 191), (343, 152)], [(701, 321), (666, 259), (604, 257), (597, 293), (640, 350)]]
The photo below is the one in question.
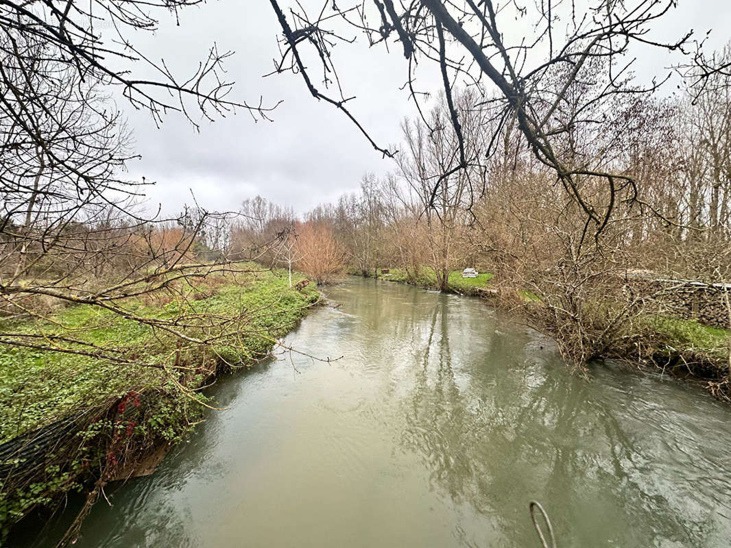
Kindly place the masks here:
[[(298, 278), (300, 279), (300, 278)], [(232, 365), (251, 363), (265, 355), (272, 338), (288, 332), (304, 314), (303, 307), (317, 300), (314, 284), (303, 292), (289, 289), (286, 277), (272, 273), (237, 274), (185, 287), (186, 300), (170, 302), (130, 301), (133, 313), (173, 318), (182, 313), (237, 316), (248, 311), (246, 334), (202, 349), (177, 344), (172, 335), (154, 333), (151, 327), (127, 320), (96, 307), (77, 305), (60, 311), (48, 321), (0, 321), (3, 332), (45, 333), (79, 338), (108, 348), (122, 348), (132, 359), (156, 365), (178, 363), (208, 366), (223, 357)], [(195, 297), (194, 297), (195, 296)], [(194, 298), (192, 298), (194, 297)], [(170, 298), (170, 297), (168, 297)], [(228, 328), (230, 332), (236, 327)], [(184, 330), (202, 337), (204, 326)], [(213, 333), (213, 330), (209, 334)], [(68, 345), (74, 347), (74, 345)], [(80, 346), (76, 346), (81, 348)], [(103, 405), (110, 398), (132, 390), (170, 390), (170, 373), (156, 368), (120, 365), (75, 354), (0, 346), (0, 443), (28, 430), (48, 425), (83, 408)], [(173, 373), (177, 376), (177, 373)], [(190, 387), (202, 378), (188, 376)]]

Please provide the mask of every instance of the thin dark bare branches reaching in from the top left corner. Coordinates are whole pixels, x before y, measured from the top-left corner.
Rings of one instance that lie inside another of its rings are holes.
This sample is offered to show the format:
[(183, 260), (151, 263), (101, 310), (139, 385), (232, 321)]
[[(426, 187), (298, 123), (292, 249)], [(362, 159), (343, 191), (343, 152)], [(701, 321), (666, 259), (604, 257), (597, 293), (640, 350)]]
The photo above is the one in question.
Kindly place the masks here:
[[(177, 17), (200, 0), (95, 0), (91, 4), (77, 0), (30, 0), (0, 2), (1, 49), (5, 61), (16, 69), (34, 75), (36, 58), (28, 45), (43, 47), (43, 58), (56, 72), (76, 73), (86, 83), (101, 83), (121, 88), (135, 108), (148, 110), (157, 122), (165, 113), (178, 111), (192, 123), (194, 113), (205, 118), (237, 107), (248, 110), (254, 118), (266, 118), (273, 107), (261, 103), (250, 106), (230, 99), (232, 84), (222, 79), (223, 61), (231, 52), (219, 52), (213, 44), (192, 74), (170, 72), (164, 61), (153, 61), (135, 46), (137, 32), (154, 32), (160, 15)], [(133, 66), (146, 66), (157, 77), (137, 76)], [(30, 80), (25, 103), (41, 107), (45, 94), (39, 86), (50, 73)], [(7, 106), (7, 105), (6, 105)], [(276, 106), (276, 105), (275, 105)], [(8, 107), (7, 114), (19, 120), (23, 110)], [(31, 128), (26, 127), (30, 140)]]

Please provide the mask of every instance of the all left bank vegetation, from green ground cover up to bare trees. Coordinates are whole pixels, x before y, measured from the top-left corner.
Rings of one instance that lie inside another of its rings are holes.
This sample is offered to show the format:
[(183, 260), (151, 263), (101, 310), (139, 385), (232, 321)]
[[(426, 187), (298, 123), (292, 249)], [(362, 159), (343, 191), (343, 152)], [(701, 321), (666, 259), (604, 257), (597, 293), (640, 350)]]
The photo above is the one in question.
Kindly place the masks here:
[[(317, 299), (296, 272), (251, 262), (286, 233), (234, 252), (236, 213), (156, 214), (151, 181), (128, 176), (139, 156), (115, 99), (194, 125), (276, 106), (230, 100), (229, 53), (213, 47), (181, 76), (129, 41), (194, 3), (0, 7), (0, 542), (31, 509), (89, 487), (69, 544), (106, 482), (200, 419), (216, 371), (268, 354)], [(135, 76), (140, 64), (151, 74)]]

